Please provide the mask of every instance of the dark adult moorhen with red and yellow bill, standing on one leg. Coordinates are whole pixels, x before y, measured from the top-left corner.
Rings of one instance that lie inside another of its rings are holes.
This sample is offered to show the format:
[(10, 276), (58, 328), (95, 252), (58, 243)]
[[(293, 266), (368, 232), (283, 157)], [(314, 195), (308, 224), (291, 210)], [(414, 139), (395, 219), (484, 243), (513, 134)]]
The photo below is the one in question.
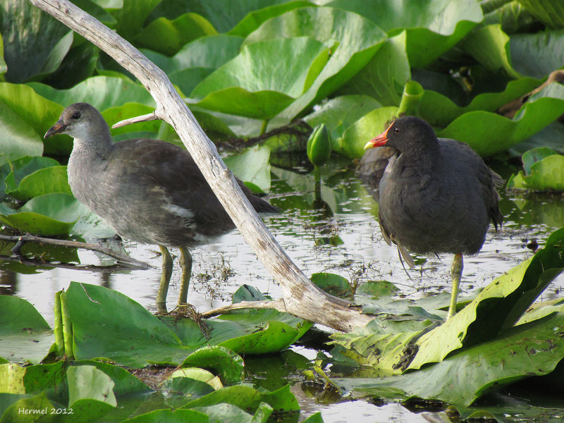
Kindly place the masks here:
[(462, 255), (475, 255), (484, 245), (489, 223), (496, 230), (503, 216), (496, 187), (501, 177), (467, 144), (437, 138), (426, 121), (415, 116), (396, 119), (367, 142), (364, 149), (393, 147), (379, 185), (379, 223), (388, 245), (396, 243), (417, 254), (453, 253), (453, 293), (448, 317), (456, 312)]

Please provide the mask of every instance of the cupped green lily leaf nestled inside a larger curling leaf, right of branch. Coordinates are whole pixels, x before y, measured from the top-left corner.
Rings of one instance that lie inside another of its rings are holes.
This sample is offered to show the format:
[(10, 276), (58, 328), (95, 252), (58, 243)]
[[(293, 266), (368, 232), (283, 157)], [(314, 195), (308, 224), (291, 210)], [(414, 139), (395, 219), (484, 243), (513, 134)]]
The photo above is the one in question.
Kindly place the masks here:
[(190, 96), (206, 109), (269, 120), (309, 88), (328, 58), (326, 45), (310, 37), (255, 42)]

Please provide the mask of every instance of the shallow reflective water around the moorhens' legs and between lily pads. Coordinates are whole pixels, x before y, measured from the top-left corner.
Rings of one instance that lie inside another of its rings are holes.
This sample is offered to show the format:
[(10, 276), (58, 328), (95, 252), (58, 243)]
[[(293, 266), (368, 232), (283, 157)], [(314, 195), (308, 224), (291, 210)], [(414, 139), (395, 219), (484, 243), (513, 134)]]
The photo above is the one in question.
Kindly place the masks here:
[[(304, 166), (294, 164), (291, 170), (286, 170), (283, 168), (288, 166), (285, 160), (278, 164), (280, 167), (272, 168), (270, 201), (284, 212), (266, 218), (266, 225), (305, 274), (309, 276), (319, 271), (329, 271), (358, 283), (385, 279), (395, 283), (400, 293), (410, 298), (450, 290), (450, 255), (443, 255), (440, 259), (418, 257), (419, 268), (409, 270), (411, 280), (407, 278), (396, 249), (384, 242), (379, 231), (376, 221), (378, 204), (357, 180), (348, 161), (336, 159), (323, 169), (320, 199), (314, 193), (312, 173), (307, 173)], [(508, 173), (503, 169), (500, 172)], [(503, 272), (531, 257), (535, 243), (542, 246), (552, 231), (564, 226), (563, 197), (525, 198), (505, 192), (501, 194), (505, 223), (497, 233), (491, 228), (479, 255), (465, 257), (461, 296), (484, 288)], [(54, 293), (67, 288), (70, 281), (94, 283), (118, 290), (152, 312), (156, 311), (154, 298), (160, 276), (157, 246), (130, 242), (114, 242), (111, 245), (148, 262), (154, 268), (118, 272), (86, 271), (0, 262), (0, 293), (17, 295), (30, 301), (51, 325)], [(273, 298), (281, 295), (276, 282), (237, 231), (219, 238), (217, 243), (197, 248), (192, 256), (194, 264), (188, 295), (189, 301), (200, 311), (231, 302), (231, 293), (243, 283), (255, 286)], [(87, 251), (79, 251), (78, 259), (84, 265), (113, 263), (107, 257)], [(169, 307), (176, 304), (179, 278), (180, 272), (175, 266), (168, 292)], [(548, 300), (560, 295), (563, 286), (564, 277), (560, 276), (547, 288), (541, 299)], [(276, 359), (281, 360), (282, 373), (272, 372), (271, 376), (265, 369), (273, 369), (276, 365), (247, 357), (247, 367), (255, 369), (254, 376), (250, 377), (261, 381), (270, 378), (273, 384), (276, 381), (277, 384), (299, 381), (299, 368), (307, 367), (317, 351), (295, 347), (283, 354), (286, 355)], [(288, 354), (292, 357), (288, 358)], [(295, 360), (302, 364), (288, 365), (288, 362)], [(414, 414), (398, 404), (376, 406), (364, 401), (351, 403), (346, 398), (337, 403), (336, 398), (320, 399), (314, 395), (314, 388), (300, 383), (294, 384), (293, 391), (305, 415), (321, 410), (326, 423), (448, 421), (442, 412)]]

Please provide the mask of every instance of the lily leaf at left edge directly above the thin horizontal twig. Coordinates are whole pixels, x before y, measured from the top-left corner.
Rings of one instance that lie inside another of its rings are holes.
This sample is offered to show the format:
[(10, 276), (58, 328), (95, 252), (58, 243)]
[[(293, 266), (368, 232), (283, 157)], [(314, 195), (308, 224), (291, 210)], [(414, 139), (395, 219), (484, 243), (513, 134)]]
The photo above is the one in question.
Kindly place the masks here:
[(54, 192), (33, 198), (17, 211), (0, 203), (0, 221), (35, 235), (68, 235), (81, 211), (72, 195)]

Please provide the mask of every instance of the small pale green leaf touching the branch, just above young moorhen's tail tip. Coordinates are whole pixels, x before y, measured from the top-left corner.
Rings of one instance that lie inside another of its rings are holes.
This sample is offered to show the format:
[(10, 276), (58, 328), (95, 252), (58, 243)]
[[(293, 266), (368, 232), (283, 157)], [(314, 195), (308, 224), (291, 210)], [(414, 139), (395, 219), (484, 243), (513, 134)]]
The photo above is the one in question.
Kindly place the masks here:
[(270, 189), (270, 149), (269, 147), (250, 147), (242, 154), (223, 159), (228, 168), (243, 182), (250, 182), (262, 192)]

